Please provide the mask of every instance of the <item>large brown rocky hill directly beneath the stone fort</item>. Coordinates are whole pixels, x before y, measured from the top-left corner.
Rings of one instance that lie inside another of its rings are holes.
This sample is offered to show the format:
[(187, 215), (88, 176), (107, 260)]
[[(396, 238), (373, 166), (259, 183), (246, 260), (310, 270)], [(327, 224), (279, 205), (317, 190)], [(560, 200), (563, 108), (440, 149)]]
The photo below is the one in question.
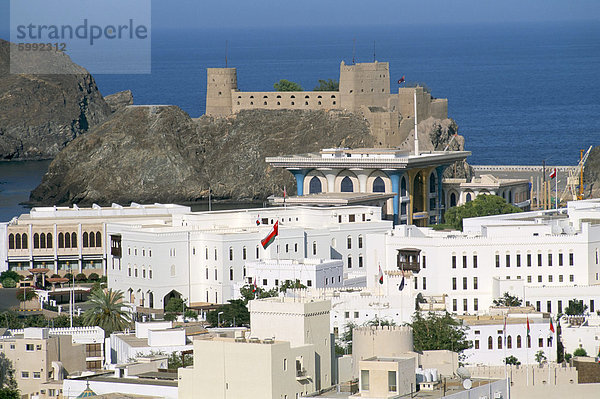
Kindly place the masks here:
[(78, 137), (31, 193), (36, 204), (264, 199), (295, 182), (266, 156), (372, 146), (366, 122), (324, 111), (244, 111), (192, 120), (176, 106), (128, 106)]

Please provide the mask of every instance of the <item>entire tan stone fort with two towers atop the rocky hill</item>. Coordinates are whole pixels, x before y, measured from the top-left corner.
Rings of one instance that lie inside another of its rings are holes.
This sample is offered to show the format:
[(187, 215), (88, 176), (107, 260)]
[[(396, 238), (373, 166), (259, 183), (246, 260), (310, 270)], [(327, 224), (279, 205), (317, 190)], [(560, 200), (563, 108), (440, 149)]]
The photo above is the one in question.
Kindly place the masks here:
[(390, 90), (387, 62), (340, 64), (338, 91), (249, 92), (237, 88), (236, 68), (207, 68), (206, 115), (228, 116), (241, 110), (323, 110), (360, 113), (378, 146), (401, 146), (414, 129), (414, 94), (418, 121), (446, 119), (448, 100), (433, 98), (423, 87)]

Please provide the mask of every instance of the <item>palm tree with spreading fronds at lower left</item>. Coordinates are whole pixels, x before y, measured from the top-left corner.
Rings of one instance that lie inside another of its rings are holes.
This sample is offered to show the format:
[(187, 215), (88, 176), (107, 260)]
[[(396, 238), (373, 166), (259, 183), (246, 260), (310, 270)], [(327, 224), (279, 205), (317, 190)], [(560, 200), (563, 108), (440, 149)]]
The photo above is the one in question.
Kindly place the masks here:
[(106, 336), (129, 327), (131, 318), (127, 312), (128, 306), (123, 303), (122, 291), (93, 290), (88, 300), (91, 308), (83, 314), (84, 325), (99, 326)]

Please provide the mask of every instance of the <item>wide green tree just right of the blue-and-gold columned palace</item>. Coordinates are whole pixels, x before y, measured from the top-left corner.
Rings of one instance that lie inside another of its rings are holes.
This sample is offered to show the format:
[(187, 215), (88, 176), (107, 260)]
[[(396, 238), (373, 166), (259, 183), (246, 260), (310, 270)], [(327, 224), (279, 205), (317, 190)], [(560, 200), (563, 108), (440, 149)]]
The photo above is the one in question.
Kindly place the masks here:
[(444, 214), (444, 219), (446, 224), (462, 230), (462, 221), (465, 218), (516, 212), (522, 212), (522, 210), (514, 205), (507, 204), (504, 198), (497, 195), (480, 194), (473, 201), (448, 209)]

